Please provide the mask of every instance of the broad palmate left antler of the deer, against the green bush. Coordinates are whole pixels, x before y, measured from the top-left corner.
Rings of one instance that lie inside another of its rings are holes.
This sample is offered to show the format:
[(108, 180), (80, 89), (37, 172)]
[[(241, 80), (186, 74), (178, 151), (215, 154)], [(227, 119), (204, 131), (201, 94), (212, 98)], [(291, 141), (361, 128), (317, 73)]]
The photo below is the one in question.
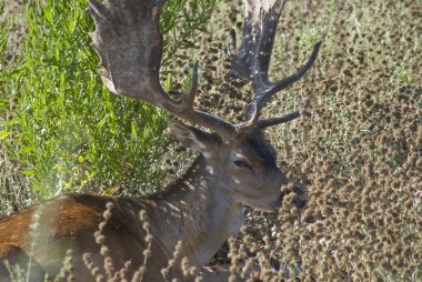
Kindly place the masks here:
[[(179, 99), (167, 93), (159, 79), (162, 56), (160, 12), (165, 0), (89, 0), (96, 22), (92, 43), (101, 58), (102, 78), (112, 92), (149, 102), (174, 115), (211, 129), (224, 138), (235, 127), (210, 113), (193, 109), (198, 88), (198, 62), (192, 82)], [(171, 93), (171, 92), (170, 92)]]

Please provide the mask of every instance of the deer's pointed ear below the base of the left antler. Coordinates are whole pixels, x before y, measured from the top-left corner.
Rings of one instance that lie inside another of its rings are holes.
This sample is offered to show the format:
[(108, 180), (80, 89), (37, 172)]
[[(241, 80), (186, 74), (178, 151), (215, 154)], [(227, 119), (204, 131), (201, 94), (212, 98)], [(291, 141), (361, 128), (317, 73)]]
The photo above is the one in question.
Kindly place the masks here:
[(207, 154), (212, 148), (215, 148), (215, 134), (204, 132), (191, 125), (187, 125), (180, 121), (169, 121), (169, 128), (180, 142), (185, 147), (192, 148)]

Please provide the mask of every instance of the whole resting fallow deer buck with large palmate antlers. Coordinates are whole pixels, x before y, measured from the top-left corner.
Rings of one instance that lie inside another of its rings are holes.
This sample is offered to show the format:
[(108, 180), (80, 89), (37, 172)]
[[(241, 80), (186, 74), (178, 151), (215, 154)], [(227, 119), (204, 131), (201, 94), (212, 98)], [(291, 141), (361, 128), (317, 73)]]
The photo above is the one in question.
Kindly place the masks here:
[[(114, 270), (125, 270), (124, 274), (119, 272), (120, 278), (139, 274), (143, 265), (143, 281), (190, 281), (180, 261), (169, 268), (175, 249), (178, 258), (205, 272), (203, 266), (222, 243), (240, 231), (245, 205), (277, 212), (289, 193), (297, 194), (290, 204), (304, 205), (303, 191), (282, 189), (290, 182), (278, 168), (277, 152), (264, 135), (267, 128), (292, 121), (301, 112), (271, 118), (261, 118), (261, 112), (275, 93), (311, 69), (321, 43), (314, 44), (308, 61), (293, 74), (271, 82), (270, 58), (284, 1), (244, 0), (242, 42), (238, 48), (232, 36), (229, 72), (244, 83), (251, 82), (253, 97), (245, 107), (244, 120), (233, 123), (194, 109), (198, 61), (191, 66), (191, 83), (185, 92), (165, 92), (160, 84), (163, 38), (159, 23), (164, 3), (89, 0), (88, 12), (96, 24), (92, 44), (101, 59), (101, 75), (108, 89), (178, 118), (169, 121), (169, 128), (199, 157), (182, 177), (151, 195), (61, 195), (0, 220), (0, 261), (19, 263), (27, 271), (27, 281), (53, 279), (63, 268), (66, 255), (71, 258), (71, 275), (77, 281), (112, 279), (102, 268), (87, 265), (103, 265), (103, 252)], [(104, 211), (107, 224), (101, 224)], [(140, 214), (149, 223), (148, 230)], [(99, 230), (108, 251), (96, 241)], [(7, 279), (8, 269), (0, 265), (1, 278)], [(168, 271), (163, 273), (163, 269)]]

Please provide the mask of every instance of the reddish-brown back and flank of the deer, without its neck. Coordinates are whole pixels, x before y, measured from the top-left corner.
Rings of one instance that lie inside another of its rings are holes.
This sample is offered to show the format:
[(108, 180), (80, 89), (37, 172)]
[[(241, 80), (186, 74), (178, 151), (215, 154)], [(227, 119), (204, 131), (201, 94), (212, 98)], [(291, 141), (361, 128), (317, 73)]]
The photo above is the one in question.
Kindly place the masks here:
[[(94, 242), (93, 234), (103, 220), (102, 212), (107, 202), (114, 203), (112, 216), (103, 234), (107, 238), (105, 244), (113, 253), (115, 269), (122, 269), (124, 262), (130, 260), (140, 265), (142, 255), (139, 254), (142, 254), (145, 244), (143, 236), (137, 233), (139, 230), (133, 230), (137, 228), (135, 224), (131, 224), (138, 222), (139, 228), (138, 214), (132, 214), (132, 219), (128, 218), (127, 211), (134, 204), (129, 199), (117, 201), (99, 195), (69, 195), (24, 210), (0, 221), (0, 248), (14, 245), (22, 253), (33, 255), (50, 278), (59, 273), (66, 253), (71, 249), (73, 271), (79, 273), (80, 278), (92, 279), (81, 258), (83, 252), (90, 252), (98, 266), (103, 264), (103, 259), (99, 255), (100, 246)], [(39, 220), (36, 214), (39, 214)], [(114, 245), (119, 248), (113, 248)], [(10, 260), (14, 255), (4, 251), (4, 248), (0, 250), (0, 259)], [(2, 276), (6, 275), (4, 270), (0, 273)]]

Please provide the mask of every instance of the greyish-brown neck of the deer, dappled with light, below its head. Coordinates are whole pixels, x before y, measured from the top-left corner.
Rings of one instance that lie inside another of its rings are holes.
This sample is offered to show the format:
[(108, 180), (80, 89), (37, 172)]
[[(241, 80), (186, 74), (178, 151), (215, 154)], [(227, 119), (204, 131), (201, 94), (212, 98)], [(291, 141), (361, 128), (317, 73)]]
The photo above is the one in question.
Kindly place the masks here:
[(170, 258), (180, 240), (179, 258), (202, 266), (243, 224), (242, 205), (230, 197), (218, 170), (201, 155), (182, 178), (154, 197), (157, 204), (149, 212), (152, 232)]

